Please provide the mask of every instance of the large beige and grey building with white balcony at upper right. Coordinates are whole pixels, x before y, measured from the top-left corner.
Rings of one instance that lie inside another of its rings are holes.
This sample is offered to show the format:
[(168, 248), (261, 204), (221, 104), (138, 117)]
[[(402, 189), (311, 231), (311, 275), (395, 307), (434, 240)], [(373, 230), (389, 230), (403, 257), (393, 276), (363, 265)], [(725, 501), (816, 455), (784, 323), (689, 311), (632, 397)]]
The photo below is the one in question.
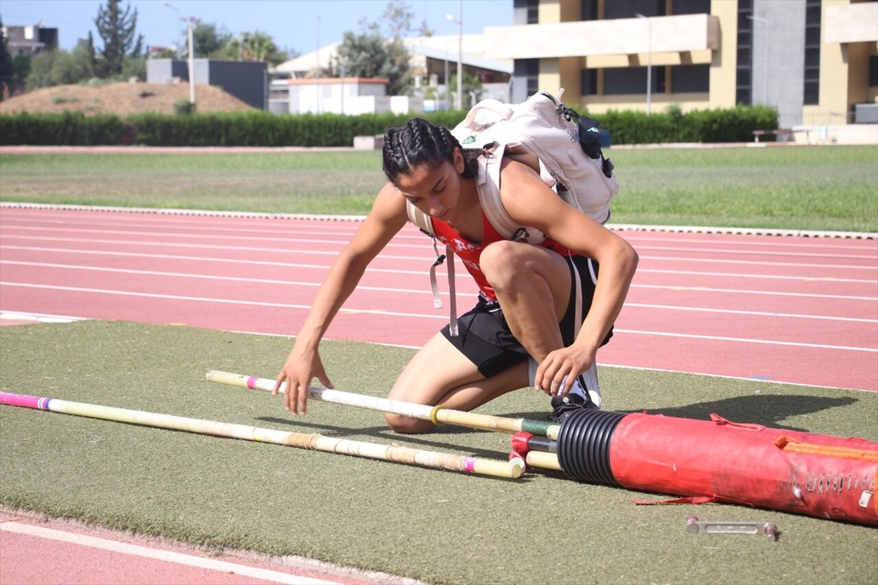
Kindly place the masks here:
[[(878, 2), (515, 0), (485, 29), (485, 56), (514, 61), (512, 101), (662, 112), (772, 105), (781, 127), (874, 122)], [(647, 89), (647, 78), (649, 88)]]

